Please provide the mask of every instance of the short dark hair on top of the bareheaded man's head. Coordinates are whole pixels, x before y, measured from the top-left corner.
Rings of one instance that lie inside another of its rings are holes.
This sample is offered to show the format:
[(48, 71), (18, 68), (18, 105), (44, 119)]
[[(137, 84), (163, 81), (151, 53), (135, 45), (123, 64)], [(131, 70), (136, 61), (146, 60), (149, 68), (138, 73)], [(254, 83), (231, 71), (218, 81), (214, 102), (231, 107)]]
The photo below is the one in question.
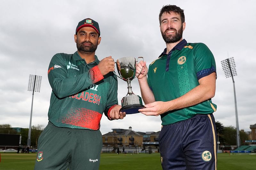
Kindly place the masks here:
[(161, 25), (161, 17), (162, 17), (164, 12), (166, 12), (168, 14), (170, 14), (171, 12), (174, 12), (176, 14), (180, 14), (181, 23), (185, 22), (184, 10), (180, 9), (180, 7), (178, 7), (176, 5), (165, 5), (165, 6), (163, 6), (163, 8), (160, 10), (160, 13), (159, 13), (159, 23), (160, 23), (160, 25)]

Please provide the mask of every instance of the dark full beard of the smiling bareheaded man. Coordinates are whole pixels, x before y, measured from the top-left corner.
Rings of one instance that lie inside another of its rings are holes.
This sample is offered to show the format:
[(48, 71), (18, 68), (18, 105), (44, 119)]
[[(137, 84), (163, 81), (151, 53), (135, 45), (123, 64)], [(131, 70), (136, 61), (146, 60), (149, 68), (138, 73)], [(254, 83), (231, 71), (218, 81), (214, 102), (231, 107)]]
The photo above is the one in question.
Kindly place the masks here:
[[(161, 31), (161, 34), (162, 34), (162, 37), (163, 37), (165, 43), (170, 44), (170, 43), (175, 43), (175, 42), (180, 41), (180, 39), (182, 38), (182, 33), (183, 33), (182, 28), (183, 27), (181, 25), (181, 27), (178, 31), (175, 28), (166, 29), (164, 33)], [(170, 31), (170, 30), (175, 31), (176, 33), (174, 35), (166, 35), (165, 33), (167, 33), (167, 31)]]

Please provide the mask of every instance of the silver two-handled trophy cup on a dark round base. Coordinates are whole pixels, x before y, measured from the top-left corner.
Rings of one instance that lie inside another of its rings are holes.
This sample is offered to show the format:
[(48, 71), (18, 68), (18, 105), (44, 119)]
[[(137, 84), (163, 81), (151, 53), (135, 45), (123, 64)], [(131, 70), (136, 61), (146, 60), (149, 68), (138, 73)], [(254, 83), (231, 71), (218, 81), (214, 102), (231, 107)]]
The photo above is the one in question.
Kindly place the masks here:
[[(139, 58), (142, 58), (142, 60), (143, 60), (143, 57), (138, 57), (138, 59)], [(120, 109), (120, 112), (126, 112), (126, 114), (139, 113), (139, 111), (138, 111), (139, 109), (145, 108), (145, 106), (142, 105), (141, 97), (132, 92), (131, 81), (133, 78), (136, 78), (140, 75), (140, 73), (139, 73), (137, 76), (135, 76), (137, 62), (138, 62), (138, 60), (136, 60), (136, 58), (134, 58), (134, 57), (119, 58), (115, 62), (117, 72), (120, 77), (118, 75), (116, 75), (116, 76), (118, 78), (123, 79), (128, 84), (128, 87), (127, 87), (128, 93), (126, 96), (124, 96), (122, 98), (122, 100), (121, 100), (122, 108)], [(142, 71), (142, 69), (141, 69), (141, 71)]]

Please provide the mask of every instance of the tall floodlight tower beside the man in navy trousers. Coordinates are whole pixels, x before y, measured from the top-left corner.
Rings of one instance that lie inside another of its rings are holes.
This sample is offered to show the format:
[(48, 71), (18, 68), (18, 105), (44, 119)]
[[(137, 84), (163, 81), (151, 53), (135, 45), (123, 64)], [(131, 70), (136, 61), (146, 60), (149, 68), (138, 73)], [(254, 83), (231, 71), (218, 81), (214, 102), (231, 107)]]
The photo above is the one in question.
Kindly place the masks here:
[(236, 73), (236, 63), (234, 61), (234, 57), (228, 58), (226, 60), (221, 61), (222, 70), (226, 78), (232, 77), (233, 87), (234, 87), (234, 97), (235, 97), (235, 112), (236, 112), (236, 144), (237, 148), (240, 146), (240, 133), (239, 133), (239, 125), (238, 125), (238, 114), (237, 114), (237, 106), (236, 106), (236, 89), (235, 89), (235, 81), (233, 76), (237, 76)]

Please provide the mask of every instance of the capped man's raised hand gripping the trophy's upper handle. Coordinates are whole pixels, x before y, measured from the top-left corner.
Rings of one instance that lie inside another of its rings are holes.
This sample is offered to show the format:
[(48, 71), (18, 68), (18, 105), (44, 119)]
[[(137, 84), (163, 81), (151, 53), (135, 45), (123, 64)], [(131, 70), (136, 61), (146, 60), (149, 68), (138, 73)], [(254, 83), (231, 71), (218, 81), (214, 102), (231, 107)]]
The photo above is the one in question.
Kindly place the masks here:
[(103, 76), (108, 74), (110, 71), (114, 71), (115, 70), (114, 59), (111, 56), (103, 58), (98, 64), (98, 68), (100, 69), (100, 72), (102, 73)]

